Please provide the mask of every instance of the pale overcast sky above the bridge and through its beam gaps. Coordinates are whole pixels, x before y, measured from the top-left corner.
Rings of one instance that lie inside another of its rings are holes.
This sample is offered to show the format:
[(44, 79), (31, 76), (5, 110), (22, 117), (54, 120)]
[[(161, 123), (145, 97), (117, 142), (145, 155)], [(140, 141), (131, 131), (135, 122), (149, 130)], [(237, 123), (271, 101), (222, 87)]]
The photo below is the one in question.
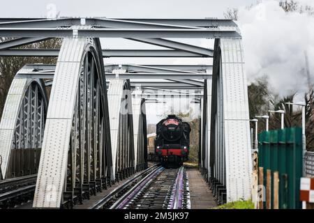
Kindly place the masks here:
[[(223, 13), (227, 8), (249, 6), (252, 3), (256, 3), (256, 1), (257, 0), (10, 0), (1, 1), (0, 17), (47, 17), (47, 12), (49, 12), (53, 6), (61, 17), (223, 18)], [(213, 47), (212, 40), (181, 39), (179, 41), (207, 48)], [(102, 39), (101, 44), (103, 49), (160, 48), (121, 38)], [(211, 59), (112, 58), (105, 59), (105, 63), (210, 64)], [(169, 111), (169, 106), (170, 103), (163, 106), (160, 104), (147, 105), (148, 123), (157, 123), (160, 119), (158, 114), (165, 113), (165, 110)], [(193, 105), (190, 106), (193, 107)]]

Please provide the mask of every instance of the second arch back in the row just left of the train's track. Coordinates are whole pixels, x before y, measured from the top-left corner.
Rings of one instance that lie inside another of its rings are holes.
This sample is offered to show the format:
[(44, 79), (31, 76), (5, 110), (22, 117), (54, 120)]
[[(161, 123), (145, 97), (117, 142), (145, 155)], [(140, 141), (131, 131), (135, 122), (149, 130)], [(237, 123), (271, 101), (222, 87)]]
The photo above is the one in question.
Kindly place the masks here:
[(135, 172), (132, 97), (128, 79), (110, 79), (108, 107), (112, 143), (113, 180)]

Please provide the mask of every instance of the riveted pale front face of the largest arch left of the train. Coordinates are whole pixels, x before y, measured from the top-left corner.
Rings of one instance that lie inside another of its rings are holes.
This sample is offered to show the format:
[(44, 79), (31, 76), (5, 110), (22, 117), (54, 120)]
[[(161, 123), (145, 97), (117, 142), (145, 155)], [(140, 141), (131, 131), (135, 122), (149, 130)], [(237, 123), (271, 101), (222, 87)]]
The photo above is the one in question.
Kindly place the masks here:
[(90, 45), (87, 38), (63, 40), (47, 111), (34, 208), (60, 207), (81, 61)]

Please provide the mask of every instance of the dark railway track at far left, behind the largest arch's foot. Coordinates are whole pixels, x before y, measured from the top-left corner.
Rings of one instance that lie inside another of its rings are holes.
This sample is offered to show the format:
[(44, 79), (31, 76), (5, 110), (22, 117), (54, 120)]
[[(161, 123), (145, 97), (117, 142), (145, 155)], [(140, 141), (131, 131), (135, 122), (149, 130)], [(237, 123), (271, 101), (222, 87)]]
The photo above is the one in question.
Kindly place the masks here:
[(0, 208), (14, 208), (33, 199), (37, 174), (0, 181)]

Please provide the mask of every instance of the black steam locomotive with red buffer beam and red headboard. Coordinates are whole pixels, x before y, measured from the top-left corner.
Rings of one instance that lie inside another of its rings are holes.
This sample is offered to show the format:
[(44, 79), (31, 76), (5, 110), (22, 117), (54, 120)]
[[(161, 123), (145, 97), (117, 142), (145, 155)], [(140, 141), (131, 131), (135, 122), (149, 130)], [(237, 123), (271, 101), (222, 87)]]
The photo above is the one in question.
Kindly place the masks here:
[(154, 144), (163, 166), (183, 164), (190, 151), (190, 125), (175, 115), (168, 115), (156, 125)]

